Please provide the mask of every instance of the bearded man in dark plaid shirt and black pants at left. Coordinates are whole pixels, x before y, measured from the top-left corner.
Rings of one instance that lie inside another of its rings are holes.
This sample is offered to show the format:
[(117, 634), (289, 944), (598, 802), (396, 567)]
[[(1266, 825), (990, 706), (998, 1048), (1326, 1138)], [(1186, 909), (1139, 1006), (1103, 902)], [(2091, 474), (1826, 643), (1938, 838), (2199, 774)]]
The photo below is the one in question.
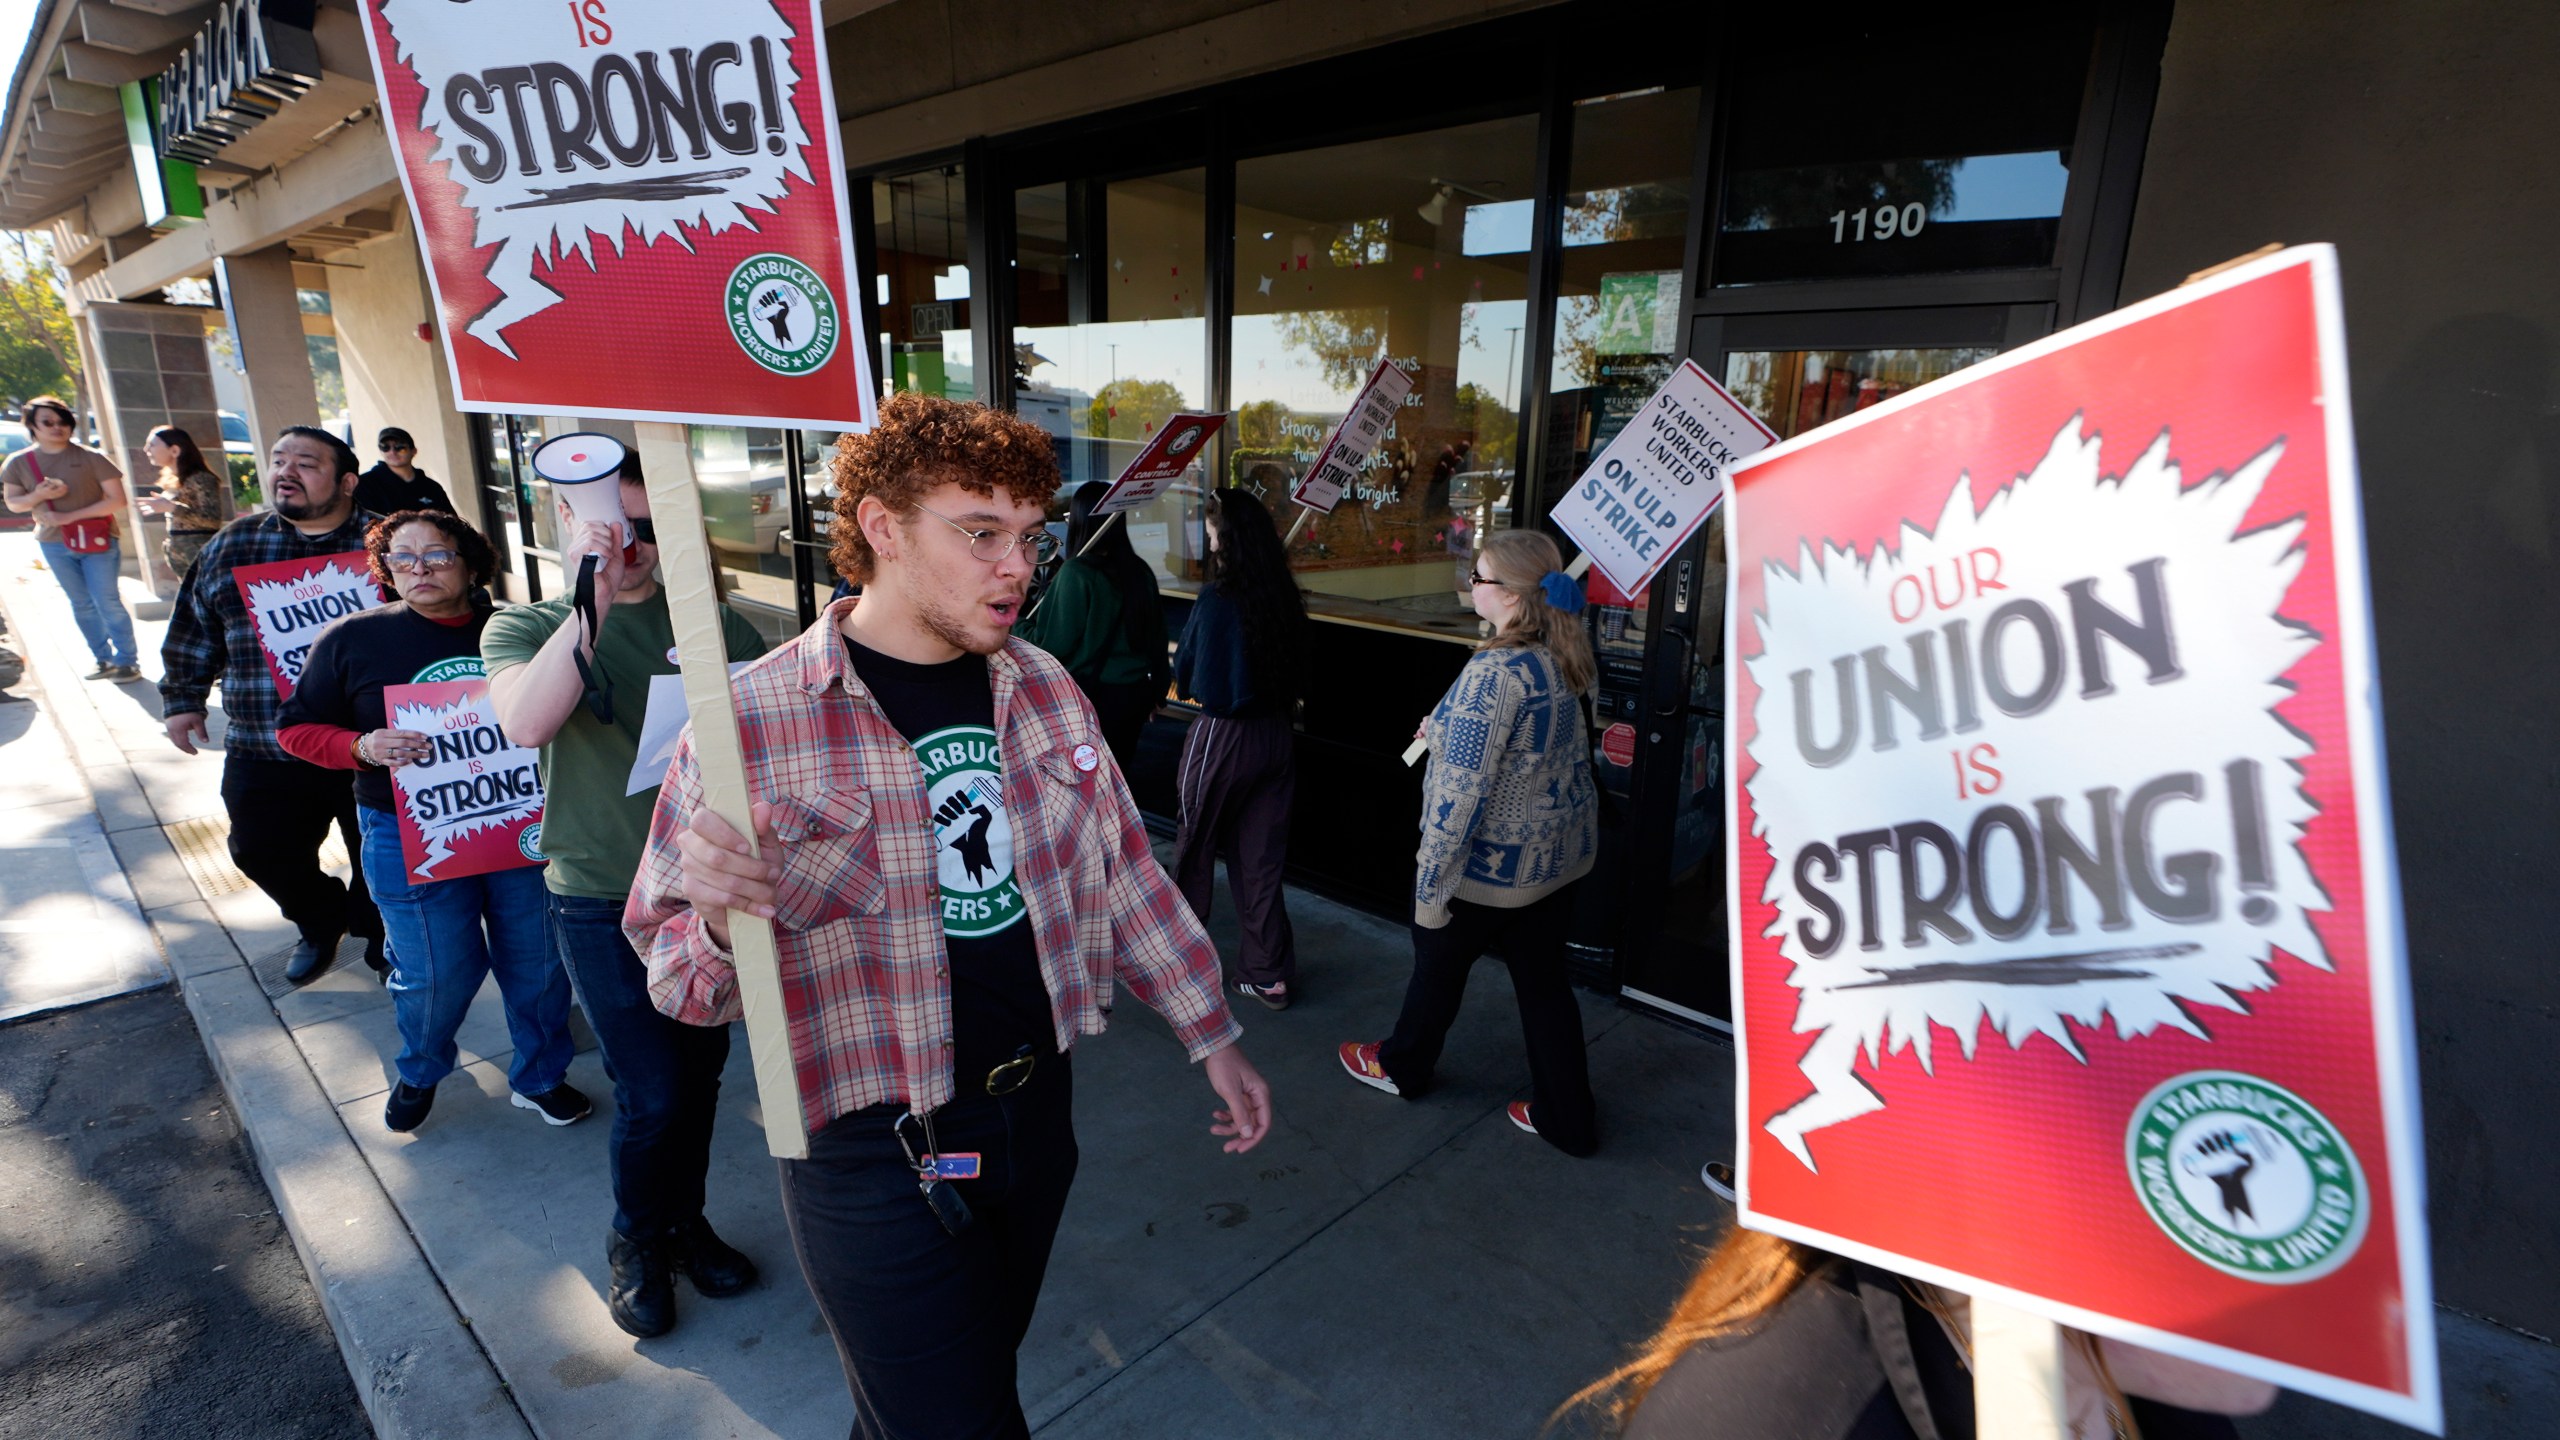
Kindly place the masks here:
[(205, 546), (177, 592), (161, 641), (161, 715), (179, 751), (192, 756), (210, 743), (205, 705), (212, 684), (223, 682), (230, 861), (302, 933), (284, 966), (284, 979), (294, 984), (325, 971), (343, 935), (364, 935), (364, 963), (376, 974), (389, 963), (364, 871), (340, 884), (320, 869), (330, 825), (338, 825), (348, 856), (364, 851), (356, 838), (356, 776), (302, 764), (276, 743), (282, 697), (230, 571), (364, 551), (364, 533), (381, 515), (356, 505), (358, 469), (356, 451), (338, 436), (287, 425), (266, 456), (266, 512), (233, 520)]

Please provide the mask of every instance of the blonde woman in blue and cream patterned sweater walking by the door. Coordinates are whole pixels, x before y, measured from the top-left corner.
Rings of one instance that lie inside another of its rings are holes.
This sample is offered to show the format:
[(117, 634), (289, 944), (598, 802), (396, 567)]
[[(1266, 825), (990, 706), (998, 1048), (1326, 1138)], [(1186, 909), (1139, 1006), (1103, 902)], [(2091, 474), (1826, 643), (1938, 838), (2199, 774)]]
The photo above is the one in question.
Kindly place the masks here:
[(1413, 874), (1413, 979), (1395, 1033), (1341, 1045), (1341, 1068), (1388, 1094), (1431, 1081), (1467, 997), (1467, 971), (1498, 945), (1528, 1040), (1531, 1099), (1510, 1122), (1567, 1156), (1597, 1148), (1582, 1010), (1564, 976), (1574, 881), (1597, 851), (1597, 794), (1582, 694), (1592, 648), (1582, 587), (1536, 530), (1492, 536), (1475, 559), (1475, 612), (1492, 623), (1431, 712), (1423, 843)]

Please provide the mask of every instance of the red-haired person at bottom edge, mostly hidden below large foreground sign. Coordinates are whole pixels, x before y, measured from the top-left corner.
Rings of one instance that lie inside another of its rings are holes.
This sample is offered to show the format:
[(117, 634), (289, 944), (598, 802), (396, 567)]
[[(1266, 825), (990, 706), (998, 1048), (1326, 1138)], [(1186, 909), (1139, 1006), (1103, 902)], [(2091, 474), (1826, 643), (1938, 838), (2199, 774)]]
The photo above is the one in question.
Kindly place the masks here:
[[(2074, 1440), (2235, 1440), (2276, 1386), (2066, 1330)], [(1574, 1399), (1626, 1440), (1971, 1440), (1966, 1297), (1736, 1225), (1661, 1332)], [(1562, 1412), (1559, 1412), (1562, 1414)]]

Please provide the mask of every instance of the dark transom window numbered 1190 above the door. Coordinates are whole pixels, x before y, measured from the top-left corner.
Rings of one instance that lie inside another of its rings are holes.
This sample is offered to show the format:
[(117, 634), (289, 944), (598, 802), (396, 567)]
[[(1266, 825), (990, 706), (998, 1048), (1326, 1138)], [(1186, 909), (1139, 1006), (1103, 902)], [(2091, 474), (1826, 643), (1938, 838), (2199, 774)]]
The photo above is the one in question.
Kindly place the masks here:
[(2056, 15), (1966, 44), (1882, 26), (1746, 67), (1715, 284), (2053, 264), (2089, 44)]

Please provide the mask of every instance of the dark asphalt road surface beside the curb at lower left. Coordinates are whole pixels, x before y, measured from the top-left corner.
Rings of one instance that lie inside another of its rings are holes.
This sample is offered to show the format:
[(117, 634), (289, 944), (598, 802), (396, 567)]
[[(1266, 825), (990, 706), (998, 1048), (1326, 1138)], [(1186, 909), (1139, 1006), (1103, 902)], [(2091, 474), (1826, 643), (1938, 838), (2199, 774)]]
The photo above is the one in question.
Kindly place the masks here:
[(366, 1437), (172, 989), (0, 1025), (0, 1440)]

